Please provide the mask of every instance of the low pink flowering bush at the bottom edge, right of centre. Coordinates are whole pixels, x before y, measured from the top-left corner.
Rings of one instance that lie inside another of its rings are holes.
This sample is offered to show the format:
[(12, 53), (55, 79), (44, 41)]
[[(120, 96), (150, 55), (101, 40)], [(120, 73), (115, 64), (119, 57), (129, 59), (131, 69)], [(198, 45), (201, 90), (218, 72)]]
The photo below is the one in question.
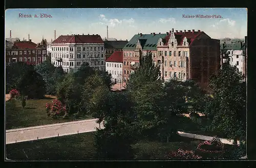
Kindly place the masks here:
[(169, 159), (201, 159), (202, 157), (196, 155), (194, 151), (185, 151), (182, 149), (178, 149), (178, 151), (170, 152), (167, 157)]

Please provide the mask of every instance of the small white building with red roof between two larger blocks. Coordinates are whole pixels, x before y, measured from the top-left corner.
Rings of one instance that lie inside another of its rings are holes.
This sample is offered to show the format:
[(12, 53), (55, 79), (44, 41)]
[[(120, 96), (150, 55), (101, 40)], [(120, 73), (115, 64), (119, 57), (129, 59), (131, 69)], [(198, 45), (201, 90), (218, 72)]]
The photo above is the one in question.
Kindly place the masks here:
[(122, 83), (123, 52), (116, 51), (106, 59), (106, 71), (111, 74), (112, 82)]

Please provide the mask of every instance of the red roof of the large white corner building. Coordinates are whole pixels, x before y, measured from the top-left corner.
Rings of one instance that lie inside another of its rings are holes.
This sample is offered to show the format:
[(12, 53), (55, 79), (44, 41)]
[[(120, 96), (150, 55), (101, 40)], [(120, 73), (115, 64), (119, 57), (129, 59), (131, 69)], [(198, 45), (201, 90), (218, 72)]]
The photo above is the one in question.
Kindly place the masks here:
[(59, 36), (52, 44), (57, 43), (104, 43), (100, 35), (66, 35)]

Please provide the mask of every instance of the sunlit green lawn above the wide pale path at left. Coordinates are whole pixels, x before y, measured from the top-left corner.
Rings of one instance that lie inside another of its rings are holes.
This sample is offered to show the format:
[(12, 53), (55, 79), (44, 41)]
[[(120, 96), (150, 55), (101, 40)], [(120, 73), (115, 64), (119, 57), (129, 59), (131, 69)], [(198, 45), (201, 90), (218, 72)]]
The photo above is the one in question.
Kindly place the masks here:
[[(6, 129), (33, 127), (40, 125), (56, 124), (75, 121), (73, 116), (67, 119), (52, 119), (46, 115), (46, 103), (53, 99), (27, 100), (25, 108), (18, 100), (12, 99), (6, 102)], [(91, 119), (91, 116), (80, 116), (76, 120)]]

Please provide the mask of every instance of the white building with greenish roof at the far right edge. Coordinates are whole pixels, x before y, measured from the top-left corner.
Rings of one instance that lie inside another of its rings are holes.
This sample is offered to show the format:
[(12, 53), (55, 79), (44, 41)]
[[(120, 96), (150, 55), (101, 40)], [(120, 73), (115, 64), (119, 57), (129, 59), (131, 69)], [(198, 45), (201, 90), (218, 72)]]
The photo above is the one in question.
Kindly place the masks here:
[(237, 66), (238, 71), (245, 75), (246, 60), (245, 60), (245, 43), (242, 41), (234, 43), (222, 43), (221, 50), (221, 63)]

